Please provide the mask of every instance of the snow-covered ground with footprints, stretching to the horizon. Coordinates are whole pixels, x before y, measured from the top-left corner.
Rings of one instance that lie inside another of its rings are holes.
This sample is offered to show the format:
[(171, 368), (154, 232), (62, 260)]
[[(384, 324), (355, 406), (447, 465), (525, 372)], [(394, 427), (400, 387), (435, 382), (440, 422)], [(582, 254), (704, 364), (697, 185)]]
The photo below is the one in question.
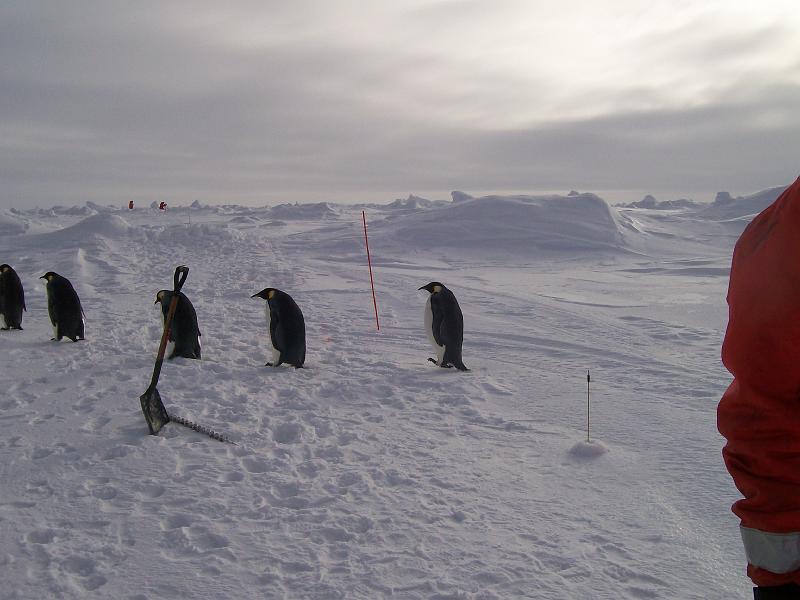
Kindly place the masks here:
[[(28, 305), (0, 332), (0, 597), (750, 597), (715, 410), (731, 251), (776, 195), (0, 212)], [(147, 434), (179, 264), (203, 360), (158, 389), (235, 446)], [(50, 270), (84, 342), (49, 341)], [(431, 280), (469, 373), (426, 361)], [(305, 314), (305, 369), (263, 366), (267, 286)]]

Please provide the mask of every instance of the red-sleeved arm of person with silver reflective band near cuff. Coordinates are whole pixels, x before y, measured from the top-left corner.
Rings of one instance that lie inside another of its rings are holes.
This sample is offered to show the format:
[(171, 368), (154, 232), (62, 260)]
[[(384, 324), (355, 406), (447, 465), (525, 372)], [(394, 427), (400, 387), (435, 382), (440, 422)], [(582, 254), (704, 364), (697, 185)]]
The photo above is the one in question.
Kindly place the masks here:
[(733, 252), (717, 426), (758, 600), (800, 599), (800, 179)]

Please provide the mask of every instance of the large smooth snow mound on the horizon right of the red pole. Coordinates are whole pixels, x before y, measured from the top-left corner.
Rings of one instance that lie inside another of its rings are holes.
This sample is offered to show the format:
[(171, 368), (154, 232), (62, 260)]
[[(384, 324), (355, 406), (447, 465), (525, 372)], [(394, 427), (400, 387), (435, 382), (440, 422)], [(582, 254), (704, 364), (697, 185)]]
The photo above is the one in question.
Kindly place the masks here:
[[(405, 247), (482, 253), (625, 249), (626, 217), (594, 194), (486, 196), (393, 221), (387, 236)], [(378, 227), (380, 224), (378, 224)], [(389, 225), (384, 225), (389, 229)]]

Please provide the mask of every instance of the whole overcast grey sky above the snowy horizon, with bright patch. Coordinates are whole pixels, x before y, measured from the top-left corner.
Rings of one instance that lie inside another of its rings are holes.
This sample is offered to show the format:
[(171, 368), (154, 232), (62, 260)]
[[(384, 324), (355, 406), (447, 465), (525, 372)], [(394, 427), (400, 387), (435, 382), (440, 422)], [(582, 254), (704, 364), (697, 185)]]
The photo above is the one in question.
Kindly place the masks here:
[(0, 2), (0, 206), (711, 200), (799, 165), (797, 0)]

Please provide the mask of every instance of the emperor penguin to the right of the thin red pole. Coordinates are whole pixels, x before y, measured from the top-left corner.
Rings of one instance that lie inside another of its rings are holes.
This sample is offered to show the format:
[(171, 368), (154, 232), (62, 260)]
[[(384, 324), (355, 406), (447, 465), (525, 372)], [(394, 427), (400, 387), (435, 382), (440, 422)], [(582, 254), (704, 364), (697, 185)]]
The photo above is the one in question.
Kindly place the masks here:
[(464, 316), (455, 295), (438, 281), (431, 281), (419, 289), (430, 293), (425, 303), (425, 331), (436, 352), (436, 359), (428, 360), (440, 367), (469, 371), (461, 360)]

